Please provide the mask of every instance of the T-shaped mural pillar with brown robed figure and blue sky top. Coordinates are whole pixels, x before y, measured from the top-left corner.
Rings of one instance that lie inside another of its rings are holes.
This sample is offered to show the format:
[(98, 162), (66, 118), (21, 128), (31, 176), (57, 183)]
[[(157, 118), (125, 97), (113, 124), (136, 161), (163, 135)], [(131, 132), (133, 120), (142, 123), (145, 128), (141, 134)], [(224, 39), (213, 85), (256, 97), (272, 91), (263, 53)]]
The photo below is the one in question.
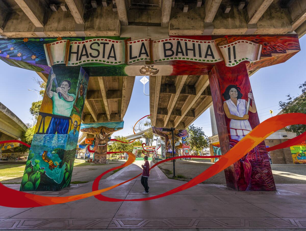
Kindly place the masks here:
[(95, 135), (95, 164), (107, 163), (107, 142), (114, 131), (121, 130), (124, 122), (82, 123), (81, 131)]

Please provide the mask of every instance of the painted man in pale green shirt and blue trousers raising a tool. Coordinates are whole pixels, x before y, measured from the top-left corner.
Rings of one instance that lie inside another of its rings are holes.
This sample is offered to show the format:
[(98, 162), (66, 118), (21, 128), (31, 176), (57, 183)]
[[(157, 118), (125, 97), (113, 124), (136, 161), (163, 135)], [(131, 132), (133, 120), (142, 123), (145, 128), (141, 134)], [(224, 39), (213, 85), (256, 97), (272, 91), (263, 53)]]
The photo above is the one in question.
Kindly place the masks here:
[[(51, 91), (54, 82), (56, 92)], [(71, 88), (69, 80), (63, 80), (60, 87), (56, 81), (56, 75), (51, 74), (50, 83), (47, 86), (47, 95), (52, 100), (52, 114), (69, 117), (73, 108), (75, 95), (68, 93)], [(52, 117), (46, 134), (67, 134), (70, 119)]]

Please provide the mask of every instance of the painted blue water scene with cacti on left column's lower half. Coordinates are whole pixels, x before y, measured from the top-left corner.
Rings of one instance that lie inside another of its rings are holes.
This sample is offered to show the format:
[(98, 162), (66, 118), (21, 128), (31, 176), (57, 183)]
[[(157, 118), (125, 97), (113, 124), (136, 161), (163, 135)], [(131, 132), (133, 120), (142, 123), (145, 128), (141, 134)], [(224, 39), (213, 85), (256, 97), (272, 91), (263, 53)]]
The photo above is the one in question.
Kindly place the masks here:
[(20, 191), (57, 191), (70, 185), (76, 148), (65, 150), (67, 136), (33, 136), (39, 145), (31, 146)]

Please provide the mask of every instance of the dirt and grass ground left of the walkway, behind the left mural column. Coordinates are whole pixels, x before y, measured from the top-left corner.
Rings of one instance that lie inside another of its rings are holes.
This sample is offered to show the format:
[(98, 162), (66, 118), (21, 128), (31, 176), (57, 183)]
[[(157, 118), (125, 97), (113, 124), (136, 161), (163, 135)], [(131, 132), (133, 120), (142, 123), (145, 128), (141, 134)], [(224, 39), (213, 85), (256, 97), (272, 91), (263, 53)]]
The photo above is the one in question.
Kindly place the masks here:
[[(110, 168), (120, 166), (125, 161), (110, 161), (109, 164), (91, 164), (84, 160), (76, 159), (73, 166), (73, 174), (71, 182), (90, 182), (99, 176), (101, 173), (109, 170)], [(8, 163), (0, 165), (0, 182), (7, 183), (20, 183), (24, 172), (24, 163)], [(113, 172), (109, 172), (102, 177), (105, 179)], [(7, 179), (7, 180), (5, 180)]]

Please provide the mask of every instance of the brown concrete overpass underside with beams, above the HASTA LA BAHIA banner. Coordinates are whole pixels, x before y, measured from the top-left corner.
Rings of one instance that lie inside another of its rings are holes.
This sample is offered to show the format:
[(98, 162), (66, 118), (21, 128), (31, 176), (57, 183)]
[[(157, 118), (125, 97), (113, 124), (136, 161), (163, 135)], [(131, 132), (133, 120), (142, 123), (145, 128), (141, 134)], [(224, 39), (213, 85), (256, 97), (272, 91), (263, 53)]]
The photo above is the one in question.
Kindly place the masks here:
[(302, 36), (305, 13), (304, 0), (1, 0), (0, 35), (163, 37), (295, 31)]

